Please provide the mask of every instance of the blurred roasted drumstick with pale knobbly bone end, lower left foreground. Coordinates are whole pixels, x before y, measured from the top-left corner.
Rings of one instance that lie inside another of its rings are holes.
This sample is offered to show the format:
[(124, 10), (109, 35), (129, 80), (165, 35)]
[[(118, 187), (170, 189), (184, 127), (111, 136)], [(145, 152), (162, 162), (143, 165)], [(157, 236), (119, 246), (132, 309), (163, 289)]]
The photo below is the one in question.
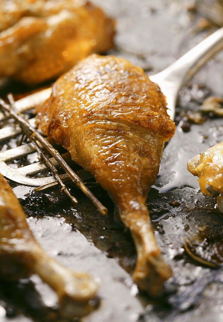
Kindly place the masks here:
[(63, 316), (80, 317), (92, 309), (89, 300), (97, 282), (86, 273), (65, 268), (40, 248), (18, 199), (0, 174), (0, 278), (17, 280), (32, 273), (57, 292)]

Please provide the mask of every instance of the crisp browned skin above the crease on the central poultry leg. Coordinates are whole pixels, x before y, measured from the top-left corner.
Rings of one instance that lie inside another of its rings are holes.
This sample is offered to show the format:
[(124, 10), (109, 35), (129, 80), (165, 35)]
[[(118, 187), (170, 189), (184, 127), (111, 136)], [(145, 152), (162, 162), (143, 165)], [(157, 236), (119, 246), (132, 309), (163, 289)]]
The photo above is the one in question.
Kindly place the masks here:
[(44, 134), (55, 137), (60, 130), (61, 140), (71, 116), (76, 126), (90, 120), (128, 121), (159, 133), (164, 141), (175, 131), (159, 86), (142, 68), (115, 56), (93, 54), (79, 62), (55, 82), (51, 97), (37, 112)]

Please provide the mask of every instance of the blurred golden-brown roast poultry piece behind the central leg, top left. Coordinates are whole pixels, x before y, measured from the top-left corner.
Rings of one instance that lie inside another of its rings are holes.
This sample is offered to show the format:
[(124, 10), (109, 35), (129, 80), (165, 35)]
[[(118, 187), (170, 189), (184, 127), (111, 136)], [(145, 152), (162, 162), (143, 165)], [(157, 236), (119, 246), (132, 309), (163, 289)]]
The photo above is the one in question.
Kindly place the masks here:
[(37, 84), (112, 47), (114, 22), (86, 0), (0, 1), (0, 77)]

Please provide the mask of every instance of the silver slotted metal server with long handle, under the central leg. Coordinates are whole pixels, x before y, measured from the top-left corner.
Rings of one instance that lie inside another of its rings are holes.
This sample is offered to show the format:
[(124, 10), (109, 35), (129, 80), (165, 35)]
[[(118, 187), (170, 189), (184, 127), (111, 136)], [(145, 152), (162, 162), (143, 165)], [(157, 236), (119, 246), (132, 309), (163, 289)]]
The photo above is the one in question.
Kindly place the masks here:
[[(198, 71), (201, 66), (207, 62), (214, 54), (223, 48), (223, 28), (204, 39), (201, 43), (183, 55), (176, 62), (171, 64), (165, 70), (156, 75), (150, 76), (151, 81), (156, 82), (167, 99), (168, 114), (174, 119), (175, 105), (178, 93), (182, 86)], [(41, 90), (35, 94), (29, 95), (15, 102), (16, 108), (20, 112), (42, 104), (51, 94), (51, 89)], [(0, 121), (6, 118), (4, 114), (0, 114)], [(34, 119), (30, 122), (34, 124)], [(6, 125), (0, 129), (0, 141), (16, 137), (21, 133), (21, 129), (17, 125)], [(40, 186), (51, 183), (54, 177), (33, 178), (34, 174), (41, 173), (47, 169), (43, 161), (28, 166), (14, 169), (7, 165), (10, 160), (18, 159), (35, 152), (35, 148), (31, 143), (24, 144), (0, 153), (0, 172), (8, 179), (20, 183), (22, 185)], [(58, 166), (53, 160), (55, 166)], [(79, 170), (78, 175), (84, 180), (90, 178), (90, 173), (85, 170)]]

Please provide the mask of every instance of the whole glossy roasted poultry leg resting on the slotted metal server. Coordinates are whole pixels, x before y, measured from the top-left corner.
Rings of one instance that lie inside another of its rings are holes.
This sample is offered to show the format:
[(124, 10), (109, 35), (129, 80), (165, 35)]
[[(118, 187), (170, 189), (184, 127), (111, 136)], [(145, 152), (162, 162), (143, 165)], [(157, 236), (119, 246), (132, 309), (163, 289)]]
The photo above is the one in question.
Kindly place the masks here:
[(56, 81), (37, 112), (44, 134), (108, 191), (136, 245), (133, 279), (159, 294), (172, 271), (156, 244), (146, 199), (175, 125), (158, 85), (127, 60), (93, 54)]

